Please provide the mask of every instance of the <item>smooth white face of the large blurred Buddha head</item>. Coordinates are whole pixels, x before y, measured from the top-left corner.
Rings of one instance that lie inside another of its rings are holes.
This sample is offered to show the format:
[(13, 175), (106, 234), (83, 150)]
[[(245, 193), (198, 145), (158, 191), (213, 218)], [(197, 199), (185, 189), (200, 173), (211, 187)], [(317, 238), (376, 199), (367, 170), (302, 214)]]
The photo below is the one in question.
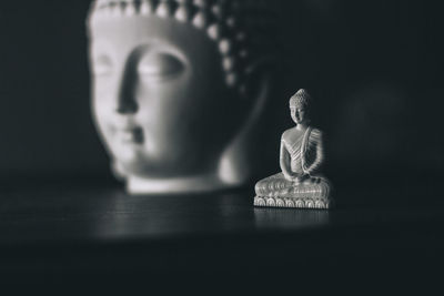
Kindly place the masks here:
[(103, 19), (90, 29), (92, 110), (114, 163), (154, 178), (214, 170), (242, 118), (214, 42), (155, 16)]

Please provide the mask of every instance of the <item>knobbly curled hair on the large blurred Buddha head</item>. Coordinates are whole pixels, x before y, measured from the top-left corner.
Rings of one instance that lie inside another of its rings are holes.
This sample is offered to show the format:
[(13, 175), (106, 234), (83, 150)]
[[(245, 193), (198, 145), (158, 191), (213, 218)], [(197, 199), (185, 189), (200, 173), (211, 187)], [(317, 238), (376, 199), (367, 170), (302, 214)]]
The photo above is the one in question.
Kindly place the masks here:
[(190, 23), (216, 43), (229, 88), (244, 93), (258, 61), (274, 55), (276, 0), (97, 0), (88, 25), (103, 19), (171, 18)]

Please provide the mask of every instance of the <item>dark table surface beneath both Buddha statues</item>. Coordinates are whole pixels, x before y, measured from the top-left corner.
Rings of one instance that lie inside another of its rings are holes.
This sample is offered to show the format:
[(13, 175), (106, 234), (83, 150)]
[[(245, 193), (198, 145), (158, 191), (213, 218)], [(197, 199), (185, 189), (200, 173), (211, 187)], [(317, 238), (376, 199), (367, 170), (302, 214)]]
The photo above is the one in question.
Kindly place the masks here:
[(332, 211), (254, 208), (252, 197), (252, 188), (130, 196), (113, 183), (4, 187), (0, 273), (14, 283), (83, 276), (170, 288), (214, 279), (258, 289), (442, 280), (437, 186), (340, 187)]

